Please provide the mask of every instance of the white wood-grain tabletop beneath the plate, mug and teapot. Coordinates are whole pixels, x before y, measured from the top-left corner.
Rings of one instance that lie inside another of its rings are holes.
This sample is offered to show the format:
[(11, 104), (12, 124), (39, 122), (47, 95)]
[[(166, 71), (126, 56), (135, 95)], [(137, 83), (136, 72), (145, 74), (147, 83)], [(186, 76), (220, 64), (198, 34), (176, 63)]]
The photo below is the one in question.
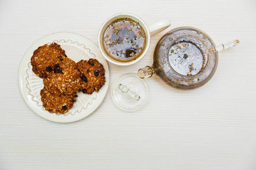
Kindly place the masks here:
[[(148, 79), (150, 99), (137, 112), (115, 107), (109, 90), (89, 117), (45, 120), (24, 102), (18, 67), (29, 46), (53, 32), (75, 32), (97, 44), (111, 15), (131, 12), (147, 24), (172, 25), (151, 39), (132, 66), (109, 63), (110, 86), (152, 64), (156, 42), (173, 28), (202, 29), (219, 44), (213, 78), (192, 91)], [(256, 169), (256, 1), (0, 1), (0, 169)]]

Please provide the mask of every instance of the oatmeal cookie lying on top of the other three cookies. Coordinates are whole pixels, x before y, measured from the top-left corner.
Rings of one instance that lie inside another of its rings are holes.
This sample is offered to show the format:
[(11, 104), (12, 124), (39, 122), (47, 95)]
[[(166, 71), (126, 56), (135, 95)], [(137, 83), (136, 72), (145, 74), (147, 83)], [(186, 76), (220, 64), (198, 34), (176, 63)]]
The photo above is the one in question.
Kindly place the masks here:
[(43, 83), (49, 92), (55, 95), (72, 95), (80, 90), (80, 72), (76, 62), (70, 58), (60, 56), (59, 63), (47, 67)]

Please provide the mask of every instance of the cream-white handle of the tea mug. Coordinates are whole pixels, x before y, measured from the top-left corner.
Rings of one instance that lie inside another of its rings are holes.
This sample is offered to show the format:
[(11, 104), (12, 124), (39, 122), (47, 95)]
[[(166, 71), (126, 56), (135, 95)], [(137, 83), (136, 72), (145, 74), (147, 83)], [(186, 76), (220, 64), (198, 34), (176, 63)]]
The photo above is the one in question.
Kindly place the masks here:
[(171, 20), (168, 18), (159, 20), (158, 22), (152, 25), (149, 25), (148, 29), (150, 31), (150, 36), (154, 36), (157, 33), (164, 31), (164, 29), (170, 27), (170, 25), (171, 25)]

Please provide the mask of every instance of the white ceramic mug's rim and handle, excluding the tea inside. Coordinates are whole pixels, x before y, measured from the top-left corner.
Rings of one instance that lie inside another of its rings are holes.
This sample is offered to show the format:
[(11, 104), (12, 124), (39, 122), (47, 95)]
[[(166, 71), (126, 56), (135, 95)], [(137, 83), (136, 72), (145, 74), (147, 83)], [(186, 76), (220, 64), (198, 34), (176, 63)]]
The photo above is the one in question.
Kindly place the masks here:
[[(131, 61), (118, 61), (118, 60), (110, 57), (108, 55), (108, 53), (106, 53), (104, 50), (103, 39), (104, 39), (104, 33), (106, 31), (106, 28), (108, 28), (108, 25), (110, 25), (114, 20), (119, 19), (119, 18), (130, 18), (132, 20), (135, 20), (135, 22), (139, 22), (139, 25), (141, 25), (141, 27), (144, 29), (144, 31), (146, 33), (146, 45), (144, 47), (145, 49), (136, 59), (131, 60)], [(106, 58), (106, 60), (108, 60), (109, 62), (112, 62), (116, 65), (121, 65), (121, 66), (131, 65), (135, 62), (138, 62), (147, 53), (147, 50), (150, 46), (150, 36), (153, 36), (156, 33), (163, 31), (164, 29), (170, 27), (170, 25), (171, 25), (170, 19), (163, 19), (163, 20), (160, 20), (159, 22), (156, 22), (148, 27), (147, 24), (141, 18), (139, 18), (137, 15), (128, 14), (128, 13), (115, 14), (115, 15), (111, 16), (109, 19), (107, 19), (101, 25), (100, 31), (98, 32), (98, 47), (100, 48), (102, 56), (104, 56)]]

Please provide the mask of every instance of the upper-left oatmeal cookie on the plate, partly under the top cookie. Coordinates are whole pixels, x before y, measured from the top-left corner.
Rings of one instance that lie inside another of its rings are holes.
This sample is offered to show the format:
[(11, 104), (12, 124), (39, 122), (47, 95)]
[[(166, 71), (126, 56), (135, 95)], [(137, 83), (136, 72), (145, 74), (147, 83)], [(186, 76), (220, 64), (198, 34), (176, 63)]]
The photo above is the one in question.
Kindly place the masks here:
[(45, 44), (39, 46), (31, 57), (32, 71), (34, 71), (40, 78), (43, 78), (43, 75), (46, 72), (46, 67), (55, 65), (59, 61), (57, 58), (59, 56), (67, 57), (65, 51), (55, 42), (50, 45)]

